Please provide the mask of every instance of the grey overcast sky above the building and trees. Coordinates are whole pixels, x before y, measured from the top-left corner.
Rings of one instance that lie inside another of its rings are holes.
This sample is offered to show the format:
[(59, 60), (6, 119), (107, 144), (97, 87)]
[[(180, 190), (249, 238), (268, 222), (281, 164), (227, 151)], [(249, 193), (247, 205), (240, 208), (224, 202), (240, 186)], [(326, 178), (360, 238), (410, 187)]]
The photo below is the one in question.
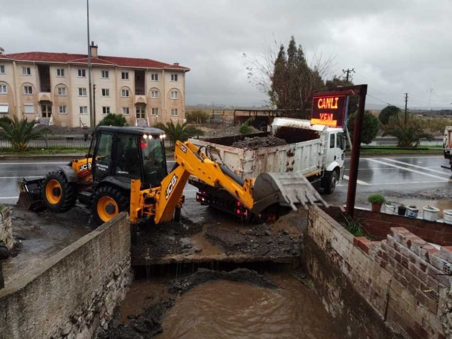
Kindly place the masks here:
[[(100, 55), (179, 62), (191, 68), (186, 103), (261, 105), (242, 53), (258, 57), (295, 36), (307, 53), (335, 55), (332, 74), (354, 68), (369, 104), (452, 109), (452, 1), (91, 0), (91, 39)], [(4, 1), (0, 46), (86, 52), (84, 1)], [(383, 102), (381, 102), (383, 101)]]

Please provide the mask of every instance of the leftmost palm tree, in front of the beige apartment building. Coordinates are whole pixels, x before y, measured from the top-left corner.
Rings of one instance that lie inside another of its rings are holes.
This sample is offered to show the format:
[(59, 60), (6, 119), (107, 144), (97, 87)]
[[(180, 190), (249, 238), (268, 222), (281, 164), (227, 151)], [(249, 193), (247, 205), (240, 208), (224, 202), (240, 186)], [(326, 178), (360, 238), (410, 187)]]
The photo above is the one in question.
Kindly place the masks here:
[(50, 130), (42, 128), (33, 130), (36, 121), (28, 122), (26, 118), (0, 119), (0, 139), (8, 140), (16, 151), (23, 151), (27, 148), (27, 144), (32, 139), (45, 137)]

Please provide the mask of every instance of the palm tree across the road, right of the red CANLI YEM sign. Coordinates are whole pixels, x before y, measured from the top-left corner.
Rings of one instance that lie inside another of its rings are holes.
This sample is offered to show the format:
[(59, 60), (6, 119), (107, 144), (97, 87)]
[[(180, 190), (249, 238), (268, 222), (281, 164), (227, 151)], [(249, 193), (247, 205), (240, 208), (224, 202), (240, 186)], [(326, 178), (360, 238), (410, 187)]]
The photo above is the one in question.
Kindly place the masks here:
[(383, 136), (395, 136), (399, 140), (397, 147), (418, 147), (420, 139), (434, 140), (424, 132), (422, 120), (412, 115), (407, 117), (406, 123), (403, 114), (390, 118), (383, 131)]

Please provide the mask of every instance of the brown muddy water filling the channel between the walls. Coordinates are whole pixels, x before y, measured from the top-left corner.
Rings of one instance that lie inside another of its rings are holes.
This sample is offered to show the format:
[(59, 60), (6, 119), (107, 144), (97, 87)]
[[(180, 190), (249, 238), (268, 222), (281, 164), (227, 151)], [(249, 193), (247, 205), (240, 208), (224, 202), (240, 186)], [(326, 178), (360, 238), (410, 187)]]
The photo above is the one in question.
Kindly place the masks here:
[(315, 292), (288, 273), (268, 289), (227, 281), (184, 293), (167, 311), (159, 339), (337, 338)]

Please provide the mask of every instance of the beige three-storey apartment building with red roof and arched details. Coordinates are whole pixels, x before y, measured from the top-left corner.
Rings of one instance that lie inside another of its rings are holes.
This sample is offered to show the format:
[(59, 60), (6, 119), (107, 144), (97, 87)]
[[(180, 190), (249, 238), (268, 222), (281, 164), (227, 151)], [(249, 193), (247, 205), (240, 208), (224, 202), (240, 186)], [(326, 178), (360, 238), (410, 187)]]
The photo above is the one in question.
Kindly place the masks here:
[[(190, 68), (151, 59), (101, 56), (92, 43), (93, 107), (130, 125), (185, 118), (185, 73)], [(86, 54), (0, 54), (0, 117), (26, 117), (67, 127), (90, 126)]]

